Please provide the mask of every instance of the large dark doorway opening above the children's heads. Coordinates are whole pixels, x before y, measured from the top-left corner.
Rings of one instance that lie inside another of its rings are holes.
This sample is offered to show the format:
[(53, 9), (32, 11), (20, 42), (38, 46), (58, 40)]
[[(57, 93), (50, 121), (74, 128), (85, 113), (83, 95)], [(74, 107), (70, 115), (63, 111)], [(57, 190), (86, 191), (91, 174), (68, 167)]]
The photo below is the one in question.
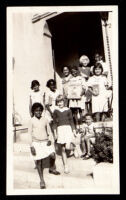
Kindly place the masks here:
[(52, 34), (55, 67), (59, 76), (65, 65), (79, 65), (83, 54), (93, 63), (95, 52), (104, 57), (101, 17), (99, 12), (64, 12), (47, 20)]

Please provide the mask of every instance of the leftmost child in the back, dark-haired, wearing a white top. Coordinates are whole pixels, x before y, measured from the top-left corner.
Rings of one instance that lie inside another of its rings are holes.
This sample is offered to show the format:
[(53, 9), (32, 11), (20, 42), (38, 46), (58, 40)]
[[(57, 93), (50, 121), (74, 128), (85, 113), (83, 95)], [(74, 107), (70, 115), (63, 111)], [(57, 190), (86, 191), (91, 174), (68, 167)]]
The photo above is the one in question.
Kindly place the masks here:
[(31, 92), (29, 96), (29, 112), (30, 116), (33, 117), (32, 115), (32, 105), (34, 103), (41, 103), (43, 104), (43, 93), (40, 90), (40, 83), (37, 80), (33, 80), (31, 82)]

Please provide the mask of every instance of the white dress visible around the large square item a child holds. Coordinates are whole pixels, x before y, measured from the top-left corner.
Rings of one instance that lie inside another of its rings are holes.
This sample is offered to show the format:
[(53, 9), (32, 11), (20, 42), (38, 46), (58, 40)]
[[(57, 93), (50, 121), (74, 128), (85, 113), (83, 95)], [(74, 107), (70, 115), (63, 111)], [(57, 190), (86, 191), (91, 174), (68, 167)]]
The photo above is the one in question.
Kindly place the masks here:
[[(87, 89), (87, 84), (85, 81), (85, 78), (81, 77), (81, 76), (76, 76), (76, 77), (72, 77), (69, 80), (69, 84), (68, 87), (70, 87), (70, 84), (74, 83), (74, 84), (79, 84), (81, 87), (81, 90), (86, 90)], [(70, 108), (81, 108), (81, 109), (85, 109), (85, 101), (86, 101), (86, 96), (83, 95), (80, 97), (80, 99), (70, 99), (69, 100), (69, 107)]]

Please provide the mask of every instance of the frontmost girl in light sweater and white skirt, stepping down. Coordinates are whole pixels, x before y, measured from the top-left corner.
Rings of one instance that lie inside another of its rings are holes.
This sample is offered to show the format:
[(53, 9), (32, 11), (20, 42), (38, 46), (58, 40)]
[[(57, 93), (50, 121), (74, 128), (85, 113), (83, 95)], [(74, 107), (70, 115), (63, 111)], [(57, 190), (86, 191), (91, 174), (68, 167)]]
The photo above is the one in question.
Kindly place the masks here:
[(59, 175), (55, 166), (55, 150), (51, 145), (50, 131), (47, 120), (42, 117), (43, 106), (40, 103), (34, 103), (32, 105), (32, 114), (30, 122), (30, 134), (31, 134), (31, 154), (36, 161), (36, 167), (40, 177), (40, 188), (46, 188), (43, 178), (43, 159), (50, 157), (50, 169), (49, 173)]

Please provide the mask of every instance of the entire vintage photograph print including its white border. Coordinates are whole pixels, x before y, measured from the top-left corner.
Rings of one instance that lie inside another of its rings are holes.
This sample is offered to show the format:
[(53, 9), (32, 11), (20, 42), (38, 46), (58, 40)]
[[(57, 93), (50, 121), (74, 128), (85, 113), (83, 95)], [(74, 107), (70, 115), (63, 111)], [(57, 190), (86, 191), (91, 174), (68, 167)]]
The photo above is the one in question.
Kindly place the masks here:
[(6, 14), (7, 194), (119, 194), (118, 6)]

